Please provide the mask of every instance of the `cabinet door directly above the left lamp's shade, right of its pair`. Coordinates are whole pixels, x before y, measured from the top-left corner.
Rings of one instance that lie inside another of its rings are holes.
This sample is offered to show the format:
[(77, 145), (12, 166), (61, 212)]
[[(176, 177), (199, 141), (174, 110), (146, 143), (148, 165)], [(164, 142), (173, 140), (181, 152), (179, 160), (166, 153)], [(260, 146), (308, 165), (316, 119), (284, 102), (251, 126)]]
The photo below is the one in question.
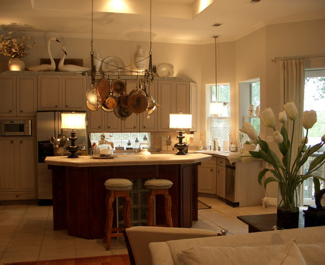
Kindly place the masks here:
[(86, 77), (63, 76), (62, 109), (86, 110)]

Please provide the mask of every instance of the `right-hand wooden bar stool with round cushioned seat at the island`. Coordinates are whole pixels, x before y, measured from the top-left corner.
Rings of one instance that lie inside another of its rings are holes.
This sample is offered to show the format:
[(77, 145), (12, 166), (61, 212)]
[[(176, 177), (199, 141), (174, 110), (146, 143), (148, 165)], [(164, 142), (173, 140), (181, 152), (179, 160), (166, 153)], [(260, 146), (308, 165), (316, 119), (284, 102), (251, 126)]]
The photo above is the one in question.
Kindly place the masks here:
[[(144, 185), (150, 189), (148, 194), (148, 226), (153, 226), (154, 207), (153, 200), (157, 194), (165, 196), (165, 214), (167, 226), (173, 227), (172, 220), (172, 199), (168, 189), (173, 185), (173, 182), (167, 179), (150, 179)], [(160, 225), (159, 225), (160, 226)]]

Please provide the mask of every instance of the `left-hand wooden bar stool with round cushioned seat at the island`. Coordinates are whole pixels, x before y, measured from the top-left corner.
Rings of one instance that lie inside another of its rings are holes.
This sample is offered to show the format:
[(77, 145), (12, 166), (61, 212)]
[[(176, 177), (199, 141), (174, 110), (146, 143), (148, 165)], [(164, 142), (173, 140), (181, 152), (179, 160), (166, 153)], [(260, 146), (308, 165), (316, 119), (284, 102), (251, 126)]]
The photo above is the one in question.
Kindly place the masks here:
[[(108, 179), (105, 181), (105, 187), (108, 189), (106, 196), (106, 224), (104, 231), (103, 241), (106, 243), (106, 249), (111, 248), (111, 238), (123, 237), (122, 233), (112, 233), (123, 231), (124, 228), (131, 227), (131, 208), (132, 202), (129, 195), (129, 190), (132, 189), (132, 182), (127, 179)], [(123, 206), (123, 218), (124, 218), (124, 228), (123, 227), (112, 227), (113, 225), (113, 202), (116, 197), (124, 197)]]

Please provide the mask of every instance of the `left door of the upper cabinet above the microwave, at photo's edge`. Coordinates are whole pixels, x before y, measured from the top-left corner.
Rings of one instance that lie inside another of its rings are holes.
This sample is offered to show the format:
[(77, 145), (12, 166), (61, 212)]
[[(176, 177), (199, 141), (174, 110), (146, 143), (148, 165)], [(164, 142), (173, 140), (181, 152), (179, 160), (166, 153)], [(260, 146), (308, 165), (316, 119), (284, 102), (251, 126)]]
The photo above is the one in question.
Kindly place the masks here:
[(0, 115), (16, 116), (16, 77), (0, 77)]

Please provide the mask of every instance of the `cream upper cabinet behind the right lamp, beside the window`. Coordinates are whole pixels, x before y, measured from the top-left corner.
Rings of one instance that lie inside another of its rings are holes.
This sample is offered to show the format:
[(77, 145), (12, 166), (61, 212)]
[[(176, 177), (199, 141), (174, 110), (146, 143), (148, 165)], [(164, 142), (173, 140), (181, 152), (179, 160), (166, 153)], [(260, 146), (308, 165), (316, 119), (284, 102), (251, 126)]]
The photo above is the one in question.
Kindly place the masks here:
[[(158, 131), (169, 131), (170, 113), (192, 114), (192, 129), (197, 129), (197, 85), (186, 81), (158, 81)], [(174, 130), (174, 129), (173, 129)]]

